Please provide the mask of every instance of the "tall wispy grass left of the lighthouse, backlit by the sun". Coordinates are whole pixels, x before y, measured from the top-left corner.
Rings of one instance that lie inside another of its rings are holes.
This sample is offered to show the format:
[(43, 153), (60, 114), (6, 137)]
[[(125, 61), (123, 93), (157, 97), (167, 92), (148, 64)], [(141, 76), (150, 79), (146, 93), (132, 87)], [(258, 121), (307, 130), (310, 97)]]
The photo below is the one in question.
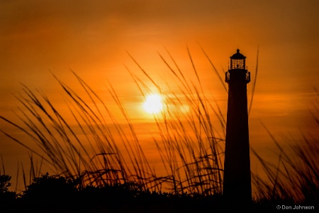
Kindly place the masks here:
[[(157, 175), (148, 162), (135, 126), (112, 85), (108, 86), (108, 92), (121, 111), (125, 124), (118, 122), (108, 105), (75, 72), (74, 77), (83, 90), (81, 94), (74, 92), (53, 75), (67, 95), (65, 106), (76, 122), (75, 126), (70, 124), (46, 94), (39, 90), (33, 92), (23, 85), (23, 94), (16, 97), (22, 106), (18, 115), (21, 124), (13, 123), (4, 116), (0, 118), (25, 133), (37, 148), (9, 133), (3, 133), (26, 147), (33, 155), (40, 157), (55, 174), (81, 178), (83, 185), (135, 180), (152, 190), (163, 190), (165, 186), (166, 190), (174, 192), (198, 192), (207, 195), (221, 193), (225, 119), (218, 106), (214, 108), (205, 97), (190, 53), (189, 59), (199, 88), (196, 83), (186, 80), (172, 57), (170, 59), (174, 68), (162, 55), (159, 56), (175, 80), (181, 84), (179, 94), (174, 91), (162, 93), (170, 104), (166, 105), (160, 116), (154, 117), (160, 136), (154, 138), (154, 142), (166, 172), (164, 175)], [(131, 58), (150, 80), (152, 87), (155, 86), (161, 91), (155, 80)], [(128, 71), (145, 97), (145, 91), (150, 91), (150, 87), (129, 69)], [(173, 109), (177, 104), (185, 102), (184, 100), (189, 106), (187, 114)], [(222, 135), (215, 131), (216, 124), (211, 121), (211, 111), (220, 121), (217, 125), (223, 129)]]

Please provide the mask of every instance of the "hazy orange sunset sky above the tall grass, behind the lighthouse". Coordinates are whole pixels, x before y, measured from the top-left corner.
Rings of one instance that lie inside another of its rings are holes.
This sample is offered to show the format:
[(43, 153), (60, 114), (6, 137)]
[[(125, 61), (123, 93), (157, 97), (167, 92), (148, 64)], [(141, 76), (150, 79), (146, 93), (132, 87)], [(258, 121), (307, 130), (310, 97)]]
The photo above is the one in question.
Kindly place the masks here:
[[(58, 85), (49, 70), (73, 85), (72, 69), (102, 96), (111, 82), (139, 121), (145, 114), (134, 110), (141, 97), (124, 65), (142, 75), (126, 52), (163, 87), (174, 87), (157, 51), (168, 58), (166, 47), (192, 76), (186, 45), (205, 91), (225, 106), (227, 94), (198, 43), (222, 76), (230, 55), (240, 48), (254, 77), (259, 46), (250, 137), (252, 145), (267, 148), (270, 140), (259, 119), (278, 135), (311, 132), (315, 124), (309, 109), (317, 97), (313, 87), (319, 89), (318, 8), (317, 0), (1, 1), (0, 114), (11, 117), (20, 82), (58, 100)], [(5, 125), (1, 122), (0, 128)], [(9, 143), (1, 136), (4, 160), (12, 160), (15, 151)]]

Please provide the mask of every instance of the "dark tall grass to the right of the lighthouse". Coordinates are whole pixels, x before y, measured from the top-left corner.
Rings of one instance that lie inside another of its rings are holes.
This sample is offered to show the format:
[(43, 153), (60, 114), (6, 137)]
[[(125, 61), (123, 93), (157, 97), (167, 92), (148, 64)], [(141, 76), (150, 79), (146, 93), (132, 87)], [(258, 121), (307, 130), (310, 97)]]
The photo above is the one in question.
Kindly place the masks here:
[[(318, 90), (315, 92), (319, 97)], [(318, 103), (316, 111), (311, 111), (318, 124)], [(264, 126), (264, 124), (262, 124)], [(264, 168), (267, 179), (253, 175), (256, 195), (260, 200), (284, 200), (292, 204), (319, 204), (319, 141), (312, 134), (301, 132), (302, 141), (293, 137), (283, 136), (289, 148), (280, 145), (277, 138), (264, 126), (277, 148), (278, 163), (274, 165), (262, 159), (261, 155), (252, 150)]]

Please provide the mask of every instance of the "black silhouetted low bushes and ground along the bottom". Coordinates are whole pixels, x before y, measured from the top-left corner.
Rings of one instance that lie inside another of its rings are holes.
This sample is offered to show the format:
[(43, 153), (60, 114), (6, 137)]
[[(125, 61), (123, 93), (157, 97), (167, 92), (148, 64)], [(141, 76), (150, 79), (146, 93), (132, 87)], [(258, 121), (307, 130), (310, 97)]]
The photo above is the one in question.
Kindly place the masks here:
[[(1, 212), (273, 212), (278, 205), (294, 207), (293, 200), (254, 200), (250, 204), (230, 204), (223, 196), (151, 192), (136, 182), (81, 187), (48, 173), (34, 178), (21, 194), (10, 192), (11, 177), (0, 176)], [(315, 203), (299, 203), (318, 207)]]

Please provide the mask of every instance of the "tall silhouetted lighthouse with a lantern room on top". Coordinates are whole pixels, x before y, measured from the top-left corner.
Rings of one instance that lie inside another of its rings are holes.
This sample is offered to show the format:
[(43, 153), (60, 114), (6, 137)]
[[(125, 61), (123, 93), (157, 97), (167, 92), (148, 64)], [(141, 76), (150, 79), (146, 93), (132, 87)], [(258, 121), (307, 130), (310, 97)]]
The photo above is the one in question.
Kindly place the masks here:
[(230, 67), (225, 72), (228, 83), (228, 111), (225, 143), (223, 195), (237, 202), (252, 199), (250, 178), (250, 139), (248, 131), (247, 83), (250, 72), (246, 57), (237, 49), (230, 57)]

